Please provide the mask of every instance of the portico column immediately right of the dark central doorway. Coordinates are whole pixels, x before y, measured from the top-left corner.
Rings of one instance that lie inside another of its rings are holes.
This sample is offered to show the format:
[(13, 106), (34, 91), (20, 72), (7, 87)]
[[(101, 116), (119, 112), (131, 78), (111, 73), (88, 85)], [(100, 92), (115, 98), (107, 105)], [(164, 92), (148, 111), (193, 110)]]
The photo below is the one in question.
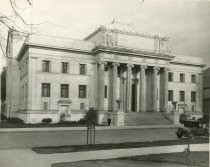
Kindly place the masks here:
[(145, 76), (145, 70), (147, 69), (147, 66), (141, 66), (140, 71), (140, 111), (145, 112), (146, 111), (146, 76)]

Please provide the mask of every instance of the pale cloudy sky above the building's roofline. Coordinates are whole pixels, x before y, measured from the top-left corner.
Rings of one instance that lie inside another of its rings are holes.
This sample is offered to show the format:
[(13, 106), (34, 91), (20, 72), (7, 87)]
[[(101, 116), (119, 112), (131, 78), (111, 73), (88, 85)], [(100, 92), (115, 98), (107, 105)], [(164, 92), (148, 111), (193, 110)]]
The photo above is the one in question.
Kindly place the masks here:
[[(100, 25), (109, 25), (116, 19), (132, 23), (141, 32), (169, 36), (171, 53), (199, 56), (210, 65), (209, 0), (30, 1), (32, 6), (27, 0), (15, 2), (23, 18), (35, 24), (32, 30), (36, 34), (83, 39)], [(0, 13), (12, 13), (8, 0), (0, 0)], [(7, 36), (6, 29), (0, 31)], [(0, 52), (0, 70), (4, 65)]]

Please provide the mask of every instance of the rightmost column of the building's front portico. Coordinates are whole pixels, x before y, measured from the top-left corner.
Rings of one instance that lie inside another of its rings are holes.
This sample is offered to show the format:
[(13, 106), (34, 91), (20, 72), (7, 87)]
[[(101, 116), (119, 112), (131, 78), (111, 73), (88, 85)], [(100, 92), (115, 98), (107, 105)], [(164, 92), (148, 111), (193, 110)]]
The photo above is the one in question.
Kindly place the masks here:
[(168, 112), (168, 68), (164, 68), (164, 111)]

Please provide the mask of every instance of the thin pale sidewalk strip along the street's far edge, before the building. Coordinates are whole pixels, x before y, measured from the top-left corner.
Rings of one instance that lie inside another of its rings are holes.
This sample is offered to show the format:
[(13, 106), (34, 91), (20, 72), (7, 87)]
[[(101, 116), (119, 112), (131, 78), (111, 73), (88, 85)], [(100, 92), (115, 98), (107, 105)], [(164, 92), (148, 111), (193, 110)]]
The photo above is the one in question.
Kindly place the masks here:
[[(123, 129), (165, 129), (177, 128), (178, 125), (147, 125), (147, 126), (97, 126), (96, 130), (123, 130)], [(86, 127), (45, 127), (45, 128), (0, 128), (0, 133), (10, 132), (45, 132), (86, 130)]]

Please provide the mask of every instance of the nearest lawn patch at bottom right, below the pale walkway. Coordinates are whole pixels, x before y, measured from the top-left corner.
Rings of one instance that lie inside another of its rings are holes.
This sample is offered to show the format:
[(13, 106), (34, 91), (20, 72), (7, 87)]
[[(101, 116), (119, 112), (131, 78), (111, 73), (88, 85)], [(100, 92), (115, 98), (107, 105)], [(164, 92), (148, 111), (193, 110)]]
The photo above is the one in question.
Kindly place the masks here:
[(90, 160), (53, 164), (52, 167), (186, 167), (209, 166), (209, 152), (151, 154), (119, 159)]

